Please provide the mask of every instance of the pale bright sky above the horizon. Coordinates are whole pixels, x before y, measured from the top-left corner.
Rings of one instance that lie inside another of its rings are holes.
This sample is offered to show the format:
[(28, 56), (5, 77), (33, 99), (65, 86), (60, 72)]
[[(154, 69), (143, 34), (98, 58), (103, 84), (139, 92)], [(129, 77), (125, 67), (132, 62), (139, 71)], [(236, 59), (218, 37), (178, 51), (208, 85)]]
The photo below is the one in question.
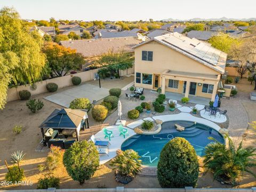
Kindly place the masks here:
[(0, 0), (22, 19), (162, 20), (192, 18), (253, 18), (256, 0)]

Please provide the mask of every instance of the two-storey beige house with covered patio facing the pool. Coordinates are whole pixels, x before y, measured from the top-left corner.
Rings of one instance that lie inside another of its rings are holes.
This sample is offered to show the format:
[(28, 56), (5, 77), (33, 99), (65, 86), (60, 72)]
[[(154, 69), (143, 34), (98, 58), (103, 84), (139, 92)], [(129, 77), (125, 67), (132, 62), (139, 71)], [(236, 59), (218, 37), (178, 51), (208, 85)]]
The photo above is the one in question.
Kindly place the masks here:
[(179, 33), (166, 34), (134, 47), (134, 85), (162, 87), (162, 93), (209, 98), (225, 73), (227, 54)]

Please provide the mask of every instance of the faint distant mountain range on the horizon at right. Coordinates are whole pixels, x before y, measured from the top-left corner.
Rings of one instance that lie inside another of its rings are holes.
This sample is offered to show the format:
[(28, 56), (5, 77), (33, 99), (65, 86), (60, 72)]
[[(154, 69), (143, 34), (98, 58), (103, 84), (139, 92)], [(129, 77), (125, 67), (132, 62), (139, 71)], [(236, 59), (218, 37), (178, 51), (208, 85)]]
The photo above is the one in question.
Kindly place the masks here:
[(193, 18), (193, 19), (185, 19), (185, 20), (181, 20), (181, 19), (173, 19), (173, 18), (169, 18), (169, 19), (163, 19), (163, 21), (251, 21), (251, 20), (256, 20), (256, 18), (243, 18), (243, 19), (235, 19), (235, 18), (226, 18), (226, 17), (222, 17), (222, 18), (212, 18), (212, 19), (203, 19), (203, 18)]

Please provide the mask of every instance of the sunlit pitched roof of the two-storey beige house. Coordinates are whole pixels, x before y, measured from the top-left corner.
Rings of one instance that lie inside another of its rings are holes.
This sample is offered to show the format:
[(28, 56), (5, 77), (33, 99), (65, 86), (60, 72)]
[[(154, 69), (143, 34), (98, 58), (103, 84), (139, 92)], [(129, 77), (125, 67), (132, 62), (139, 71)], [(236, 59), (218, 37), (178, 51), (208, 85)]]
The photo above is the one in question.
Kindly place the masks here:
[(203, 63), (221, 74), (225, 72), (227, 54), (215, 49), (209, 43), (199, 41), (196, 38), (189, 38), (179, 33), (171, 33), (154, 37), (147, 42), (140, 43), (135, 47), (156, 41), (171, 49), (178, 51), (187, 57)]

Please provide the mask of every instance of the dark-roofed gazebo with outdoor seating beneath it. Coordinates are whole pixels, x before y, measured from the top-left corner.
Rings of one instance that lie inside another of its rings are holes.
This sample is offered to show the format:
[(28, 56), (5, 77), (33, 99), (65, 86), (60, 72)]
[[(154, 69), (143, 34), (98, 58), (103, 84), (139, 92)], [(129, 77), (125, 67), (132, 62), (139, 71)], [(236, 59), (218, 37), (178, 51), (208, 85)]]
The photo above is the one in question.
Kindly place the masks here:
[[(79, 141), (79, 131), (86, 126), (89, 128), (87, 110), (62, 108), (55, 109), (39, 125), (39, 128), (42, 132), (44, 146), (46, 146), (46, 143), (49, 145), (49, 142), (51, 145), (64, 146), (65, 142), (74, 142), (74, 137)], [(76, 136), (73, 137), (74, 134)], [(69, 137), (70, 135), (72, 136)]]

